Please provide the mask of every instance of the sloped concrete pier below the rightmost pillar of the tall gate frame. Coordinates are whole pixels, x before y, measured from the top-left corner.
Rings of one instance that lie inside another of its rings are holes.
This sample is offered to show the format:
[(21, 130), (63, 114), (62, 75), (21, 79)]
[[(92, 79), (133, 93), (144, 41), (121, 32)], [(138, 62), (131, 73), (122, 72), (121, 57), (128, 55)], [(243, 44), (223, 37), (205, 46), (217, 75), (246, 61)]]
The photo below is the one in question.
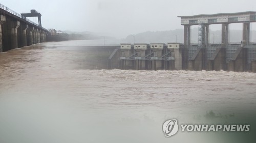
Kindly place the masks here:
[(234, 53), (233, 58), (228, 63), (228, 70), (244, 72), (247, 70), (247, 48), (240, 47)]

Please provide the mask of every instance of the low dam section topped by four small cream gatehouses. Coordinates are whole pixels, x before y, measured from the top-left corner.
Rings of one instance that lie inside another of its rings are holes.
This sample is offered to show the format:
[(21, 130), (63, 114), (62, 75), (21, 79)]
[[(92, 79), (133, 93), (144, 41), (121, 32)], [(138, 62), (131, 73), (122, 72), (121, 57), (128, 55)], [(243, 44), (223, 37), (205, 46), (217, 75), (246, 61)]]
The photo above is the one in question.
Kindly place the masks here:
[[(181, 70), (182, 50), (179, 43), (121, 44), (121, 69)], [(176, 60), (175, 60), (176, 59)]]

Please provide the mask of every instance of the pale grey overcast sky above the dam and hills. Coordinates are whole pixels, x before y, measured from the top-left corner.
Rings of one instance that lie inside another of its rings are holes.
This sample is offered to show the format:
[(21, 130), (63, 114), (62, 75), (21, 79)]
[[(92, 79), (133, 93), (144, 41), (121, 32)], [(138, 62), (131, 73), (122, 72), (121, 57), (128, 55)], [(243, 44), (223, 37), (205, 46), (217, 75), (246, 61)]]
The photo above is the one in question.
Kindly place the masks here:
[(255, 0), (2, 0), (0, 3), (18, 13), (37, 10), (42, 14), (45, 28), (91, 31), (118, 38), (183, 28), (178, 15), (256, 11)]

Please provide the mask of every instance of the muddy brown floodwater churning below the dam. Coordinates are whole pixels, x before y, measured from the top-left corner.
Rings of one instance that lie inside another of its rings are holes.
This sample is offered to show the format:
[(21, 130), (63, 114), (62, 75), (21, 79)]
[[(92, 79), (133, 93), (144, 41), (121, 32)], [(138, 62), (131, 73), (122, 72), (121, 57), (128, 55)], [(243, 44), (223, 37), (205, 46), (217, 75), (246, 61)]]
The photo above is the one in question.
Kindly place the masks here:
[(233, 142), (229, 134), (181, 130), (167, 138), (162, 124), (253, 125), (255, 73), (90, 70), (84, 45), (49, 42), (0, 53), (1, 143)]

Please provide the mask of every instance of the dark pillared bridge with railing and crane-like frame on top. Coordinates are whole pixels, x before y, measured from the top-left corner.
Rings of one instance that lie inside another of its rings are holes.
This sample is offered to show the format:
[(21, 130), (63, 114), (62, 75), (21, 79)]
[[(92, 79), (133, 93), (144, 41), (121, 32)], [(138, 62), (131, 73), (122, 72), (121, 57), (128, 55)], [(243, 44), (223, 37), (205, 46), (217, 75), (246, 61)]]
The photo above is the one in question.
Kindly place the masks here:
[[(38, 23), (27, 17), (37, 16)], [(0, 4), (0, 52), (46, 41), (48, 30), (41, 26), (40, 13), (19, 14)]]

